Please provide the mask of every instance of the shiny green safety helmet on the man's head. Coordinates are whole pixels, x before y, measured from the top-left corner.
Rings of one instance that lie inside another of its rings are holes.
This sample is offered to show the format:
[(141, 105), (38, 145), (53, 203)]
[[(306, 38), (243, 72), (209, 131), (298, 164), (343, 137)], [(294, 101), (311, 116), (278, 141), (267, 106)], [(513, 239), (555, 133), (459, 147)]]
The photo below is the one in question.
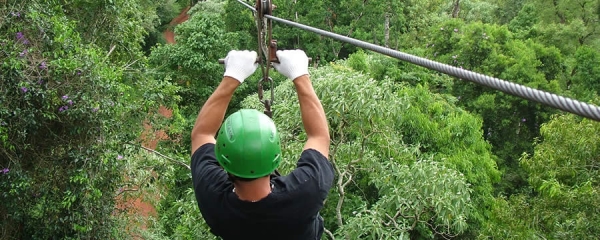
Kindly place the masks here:
[(215, 155), (225, 171), (234, 176), (259, 178), (269, 175), (281, 162), (275, 123), (254, 109), (231, 114), (219, 130)]

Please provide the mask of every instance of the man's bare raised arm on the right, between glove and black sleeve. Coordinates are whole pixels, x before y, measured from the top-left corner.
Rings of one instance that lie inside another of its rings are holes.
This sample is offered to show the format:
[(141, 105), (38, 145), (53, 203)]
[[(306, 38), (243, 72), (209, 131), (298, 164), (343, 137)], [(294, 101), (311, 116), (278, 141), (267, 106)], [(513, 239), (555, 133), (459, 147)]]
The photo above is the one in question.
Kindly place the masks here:
[(304, 149), (315, 149), (329, 159), (329, 126), (323, 105), (317, 97), (308, 75), (294, 79), (300, 102), (300, 113), (308, 140)]

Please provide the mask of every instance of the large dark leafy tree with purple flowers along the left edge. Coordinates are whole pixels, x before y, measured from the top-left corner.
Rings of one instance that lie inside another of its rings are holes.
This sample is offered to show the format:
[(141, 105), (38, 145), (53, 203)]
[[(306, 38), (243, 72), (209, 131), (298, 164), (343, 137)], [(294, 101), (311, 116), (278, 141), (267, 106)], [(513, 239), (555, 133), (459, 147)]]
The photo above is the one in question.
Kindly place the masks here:
[[(0, 26), (0, 229), (15, 239), (117, 238), (122, 144), (175, 89), (147, 78), (144, 59), (113, 63), (60, 6), (0, 8), (9, 16)], [(139, 31), (123, 29), (133, 38), (124, 41), (134, 46)]]

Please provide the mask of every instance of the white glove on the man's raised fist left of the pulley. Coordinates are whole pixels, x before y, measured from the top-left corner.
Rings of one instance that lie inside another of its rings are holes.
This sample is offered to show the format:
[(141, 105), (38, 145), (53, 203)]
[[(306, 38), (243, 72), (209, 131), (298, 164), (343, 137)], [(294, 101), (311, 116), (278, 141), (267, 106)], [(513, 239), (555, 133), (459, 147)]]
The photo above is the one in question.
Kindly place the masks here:
[(243, 83), (258, 68), (257, 56), (255, 51), (229, 51), (225, 57), (225, 74), (223, 76), (235, 78)]

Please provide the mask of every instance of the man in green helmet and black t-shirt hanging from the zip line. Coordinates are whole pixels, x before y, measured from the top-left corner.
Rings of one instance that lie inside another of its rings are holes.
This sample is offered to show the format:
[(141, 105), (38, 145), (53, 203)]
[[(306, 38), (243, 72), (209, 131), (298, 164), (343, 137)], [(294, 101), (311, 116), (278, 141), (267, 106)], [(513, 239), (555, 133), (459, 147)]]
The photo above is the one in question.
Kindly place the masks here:
[(320, 239), (319, 211), (334, 172), (328, 161), (329, 127), (306, 54), (277, 51), (280, 63), (273, 64), (294, 83), (308, 136), (296, 169), (286, 176), (272, 174), (281, 162), (281, 147), (266, 115), (243, 109), (221, 126), (235, 89), (258, 67), (256, 57), (256, 52), (229, 52), (223, 80), (198, 114), (191, 136), (198, 207), (211, 232), (226, 240)]

